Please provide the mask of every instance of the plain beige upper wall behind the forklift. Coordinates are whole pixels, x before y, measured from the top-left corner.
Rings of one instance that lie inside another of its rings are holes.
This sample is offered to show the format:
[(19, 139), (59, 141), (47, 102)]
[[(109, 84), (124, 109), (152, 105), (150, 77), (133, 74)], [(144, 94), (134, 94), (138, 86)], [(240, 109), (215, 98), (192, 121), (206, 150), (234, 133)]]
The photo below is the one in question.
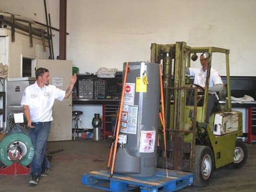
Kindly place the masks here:
[[(19, 3), (17, 3), (19, 2)], [(1, 9), (45, 23), (42, 0), (0, 0)], [(47, 0), (59, 28), (59, 0)], [(231, 75), (254, 76), (255, 0), (68, 0), (67, 59), (80, 72), (122, 70), (125, 61), (150, 60), (150, 44), (229, 48)], [(34, 13), (37, 13), (37, 16)], [(58, 37), (54, 37), (58, 50)], [(55, 54), (56, 55), (56, 54)], [(213, 67), (225, 74), (221, 56)]]

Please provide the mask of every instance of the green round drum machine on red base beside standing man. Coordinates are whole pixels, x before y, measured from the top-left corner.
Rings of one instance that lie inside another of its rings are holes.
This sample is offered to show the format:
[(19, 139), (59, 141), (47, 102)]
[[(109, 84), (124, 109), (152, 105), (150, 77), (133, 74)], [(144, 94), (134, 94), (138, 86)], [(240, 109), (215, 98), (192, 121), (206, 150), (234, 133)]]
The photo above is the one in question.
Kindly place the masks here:
[(0, 175), (27, 175), (34, 157), (33, 144), (24, 123), (15, 123), (14, 114), (8, 121), (11, 129), (0, 140)]

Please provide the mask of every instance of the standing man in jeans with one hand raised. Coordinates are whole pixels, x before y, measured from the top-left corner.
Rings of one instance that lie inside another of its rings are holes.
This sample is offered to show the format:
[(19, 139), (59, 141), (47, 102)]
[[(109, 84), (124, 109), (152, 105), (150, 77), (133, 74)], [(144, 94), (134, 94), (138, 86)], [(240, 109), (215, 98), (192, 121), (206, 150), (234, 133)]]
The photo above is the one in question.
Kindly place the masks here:
[[(21, 105), (27, 120), (28, 131), (34, 145), (35, 156), (31, 163), (29, 181), (32, 185), (38, 184), (41, 174), (46, 176), (49, 170), (49, 161), (45, 157), (46, 143), (49, 136), (54, 100), (68, 98), (76, 82), (76, 74), (71, 76), (70, 85), (66, 91), (49, 84), (49, 70), (38, 68), (37, 81), (28, 86), (22, 97)], [(44, 170), (42, 170), (42, 166)]]

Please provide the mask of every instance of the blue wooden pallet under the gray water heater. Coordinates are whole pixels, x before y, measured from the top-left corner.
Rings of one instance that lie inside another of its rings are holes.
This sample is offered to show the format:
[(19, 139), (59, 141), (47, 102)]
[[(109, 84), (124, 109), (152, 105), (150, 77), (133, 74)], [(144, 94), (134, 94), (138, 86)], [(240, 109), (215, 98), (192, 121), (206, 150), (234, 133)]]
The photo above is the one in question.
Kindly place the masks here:
[(127, 192), (136, 188), (140, 192), (173, 192), (193, 182), (193, 173), (157, 169), (153, 177), (132, 177), (121, 174), (114, 174), (110, 178), (110, 172), (105, 170), (91, 171), (84, 173), (82, 183), (86, 186), (102, 189), (110, 192)]

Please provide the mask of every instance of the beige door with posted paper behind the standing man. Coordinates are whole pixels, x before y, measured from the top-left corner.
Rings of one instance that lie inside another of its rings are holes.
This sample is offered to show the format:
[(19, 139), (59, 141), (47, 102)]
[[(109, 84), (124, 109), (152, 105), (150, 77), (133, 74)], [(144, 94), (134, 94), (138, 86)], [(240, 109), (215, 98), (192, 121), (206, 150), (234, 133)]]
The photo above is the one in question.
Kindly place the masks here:
[[(37, 68), (49, 70), (50, 84), (66, 91), (72, 75), (70, 60), (37, 60)], [(72, 140), (72, 95), (62, 101), (55, 100), (52, 108), (53, 121), (48, 141)]]

